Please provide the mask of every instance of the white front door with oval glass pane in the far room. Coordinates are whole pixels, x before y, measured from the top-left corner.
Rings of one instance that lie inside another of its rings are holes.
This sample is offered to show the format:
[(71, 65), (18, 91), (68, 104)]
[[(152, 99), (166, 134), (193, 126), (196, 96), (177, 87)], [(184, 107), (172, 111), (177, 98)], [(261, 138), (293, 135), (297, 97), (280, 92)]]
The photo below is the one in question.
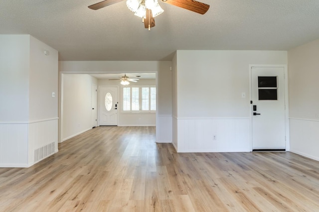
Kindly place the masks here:
[(100, 125), (118, 125), (118, 87), (99, 87)]

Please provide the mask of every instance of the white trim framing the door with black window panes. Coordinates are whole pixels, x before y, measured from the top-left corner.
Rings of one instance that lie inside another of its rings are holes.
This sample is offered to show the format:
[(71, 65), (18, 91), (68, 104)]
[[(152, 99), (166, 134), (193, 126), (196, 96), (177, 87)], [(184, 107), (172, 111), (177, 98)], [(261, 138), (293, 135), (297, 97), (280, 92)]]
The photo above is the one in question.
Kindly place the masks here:
[[(284, 83), (285, 83), (285, 136), (286, 136), (286, 151), (290, 151), (290, 139), (289, 139), (289, 100), (288, 100), (288, 69), (287, 65), (262, 65), (262, 64), (249, 64), (249, 98), (252, 101), (252, 79), (251, 79), (251, 70), (253, 67), (276, 67), (284, 68)], [(252, 104), (249, 104), (249, 148), (250, 151), (253, 151), (253, 139), (252, 139)]]

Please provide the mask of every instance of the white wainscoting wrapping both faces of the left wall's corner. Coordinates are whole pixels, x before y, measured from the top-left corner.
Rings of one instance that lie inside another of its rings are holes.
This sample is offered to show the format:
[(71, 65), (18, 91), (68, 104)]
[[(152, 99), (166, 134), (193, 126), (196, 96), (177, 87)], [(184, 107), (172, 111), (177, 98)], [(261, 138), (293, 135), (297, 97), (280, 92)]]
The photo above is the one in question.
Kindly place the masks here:
[(0, 123), (0, 167), (29, 167), (52, 155), (57, 135), (58, 118)]

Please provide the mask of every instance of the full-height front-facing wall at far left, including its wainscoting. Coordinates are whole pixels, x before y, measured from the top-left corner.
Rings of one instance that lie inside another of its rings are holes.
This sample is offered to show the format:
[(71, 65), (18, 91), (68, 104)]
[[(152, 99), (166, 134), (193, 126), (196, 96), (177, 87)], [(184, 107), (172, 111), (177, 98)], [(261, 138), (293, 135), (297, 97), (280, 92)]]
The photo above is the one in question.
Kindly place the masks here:
[(28, 164), (29, 35), (0, 35), (0, 167)]

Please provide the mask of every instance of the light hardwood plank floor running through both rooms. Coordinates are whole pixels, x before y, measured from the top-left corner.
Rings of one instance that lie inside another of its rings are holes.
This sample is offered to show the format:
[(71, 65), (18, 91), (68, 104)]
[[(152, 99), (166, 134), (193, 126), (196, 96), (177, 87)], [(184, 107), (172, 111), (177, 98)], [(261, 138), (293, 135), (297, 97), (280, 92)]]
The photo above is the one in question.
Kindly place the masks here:
[(0, 211), (319, 211), (319, 162), (179, 153), (155, 127), (97, 127), (30, 168), (0, 169)]

